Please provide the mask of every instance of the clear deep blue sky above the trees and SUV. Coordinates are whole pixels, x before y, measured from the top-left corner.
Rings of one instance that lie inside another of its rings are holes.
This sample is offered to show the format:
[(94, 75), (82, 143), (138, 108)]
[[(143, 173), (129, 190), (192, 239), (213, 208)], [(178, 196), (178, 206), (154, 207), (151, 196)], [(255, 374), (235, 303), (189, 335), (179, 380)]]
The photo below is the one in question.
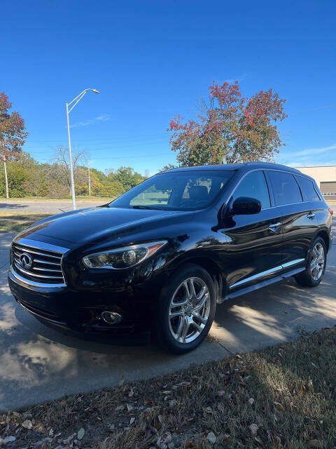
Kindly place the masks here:
[(336, 2), (34, 0), (1, 2), (0, 91), (26, 120), (25, 150), (73, 146), (96, 168), (151, 174), (174, 163), (167, 126), (197, 114), (213, 79), (286, 98), (277, 161), (336, 164)]

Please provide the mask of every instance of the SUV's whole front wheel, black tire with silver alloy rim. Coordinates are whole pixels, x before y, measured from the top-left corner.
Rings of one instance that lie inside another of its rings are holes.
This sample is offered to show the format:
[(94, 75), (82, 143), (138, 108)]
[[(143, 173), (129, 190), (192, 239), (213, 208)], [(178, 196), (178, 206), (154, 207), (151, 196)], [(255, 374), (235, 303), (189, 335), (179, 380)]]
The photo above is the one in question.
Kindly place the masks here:
[(199, 265), (186, 264), (161, 290), (154, 316), (156, 340), (173, 354), (192, 351), (207, 337), (215, 312), (210, 274)]

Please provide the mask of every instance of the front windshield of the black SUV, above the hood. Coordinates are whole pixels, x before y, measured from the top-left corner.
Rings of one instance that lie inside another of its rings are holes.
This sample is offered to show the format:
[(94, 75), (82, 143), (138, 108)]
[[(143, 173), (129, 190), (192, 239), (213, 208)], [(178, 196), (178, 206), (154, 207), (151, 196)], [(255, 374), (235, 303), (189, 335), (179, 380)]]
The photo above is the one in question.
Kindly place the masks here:
[(209, 206), (223, 191), (232, 170), (159, 173), (112, 201), (111, 208), (196, 210)]

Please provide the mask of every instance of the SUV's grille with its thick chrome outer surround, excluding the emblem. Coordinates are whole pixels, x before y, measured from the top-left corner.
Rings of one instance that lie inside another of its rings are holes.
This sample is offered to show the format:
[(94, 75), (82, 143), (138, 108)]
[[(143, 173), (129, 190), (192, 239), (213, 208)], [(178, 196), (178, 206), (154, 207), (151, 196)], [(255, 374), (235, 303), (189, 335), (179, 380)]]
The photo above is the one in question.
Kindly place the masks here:
[[(13, 241), (11, 250), (13, 255), (11, 272), (21, 281), (24, 279), (25, 283), (38, 286), (66, 285), (61, 261), (68, 248), (31, 239), (20, 239)], [(20, 260), (22, 254), (30, 256), (30, 266), (25, 266), (25, 260)], [(38, 258), (35, 258), (36, 256)]]

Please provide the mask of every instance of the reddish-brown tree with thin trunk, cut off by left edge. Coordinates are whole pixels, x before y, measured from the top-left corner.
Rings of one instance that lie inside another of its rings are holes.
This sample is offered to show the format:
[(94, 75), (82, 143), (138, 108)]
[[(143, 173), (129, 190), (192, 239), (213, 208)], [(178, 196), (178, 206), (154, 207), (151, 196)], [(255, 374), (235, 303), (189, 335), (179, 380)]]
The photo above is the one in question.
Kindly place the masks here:
[(6, 197), (8, 194), (8, 177), (6, 161), (15, 159), (15, 154), (22, 151), (21, 147), (25, 143), (28, 133), (25, 132), (25, 120), (18, 112), (11, 114), (8, 110), (12, 103), (4, 92), (0, 92), (0, 158), (3, 160), (5, 170)]

